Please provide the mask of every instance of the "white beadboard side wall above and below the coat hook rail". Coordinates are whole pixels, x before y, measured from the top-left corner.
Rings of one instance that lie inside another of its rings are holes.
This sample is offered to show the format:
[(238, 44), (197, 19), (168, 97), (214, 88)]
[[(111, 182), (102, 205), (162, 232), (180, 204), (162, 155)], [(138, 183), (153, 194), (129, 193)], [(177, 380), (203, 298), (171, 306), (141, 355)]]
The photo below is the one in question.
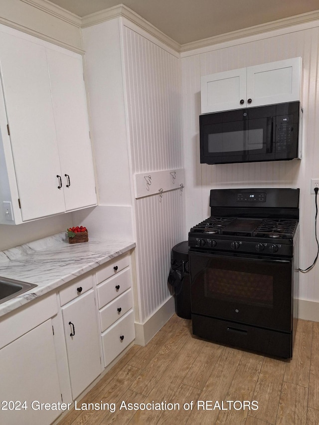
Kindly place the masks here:
[[(123, 53), (132, 173), (182, 168), (179, 58), (125, 25)], [(170, 296), (170, 251), (185, 240), (184, 191), (133, 202), (139, 283), (136, 320), (144, 323)]]

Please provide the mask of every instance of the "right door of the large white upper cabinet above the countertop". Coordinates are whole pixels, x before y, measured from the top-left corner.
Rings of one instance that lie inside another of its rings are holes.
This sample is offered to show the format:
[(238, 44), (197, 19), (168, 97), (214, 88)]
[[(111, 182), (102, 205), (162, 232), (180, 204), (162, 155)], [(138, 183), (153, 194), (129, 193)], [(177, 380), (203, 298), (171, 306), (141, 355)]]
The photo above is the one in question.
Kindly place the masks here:
[(66, 211), (96, 205), (82, 56), (47, 49)]

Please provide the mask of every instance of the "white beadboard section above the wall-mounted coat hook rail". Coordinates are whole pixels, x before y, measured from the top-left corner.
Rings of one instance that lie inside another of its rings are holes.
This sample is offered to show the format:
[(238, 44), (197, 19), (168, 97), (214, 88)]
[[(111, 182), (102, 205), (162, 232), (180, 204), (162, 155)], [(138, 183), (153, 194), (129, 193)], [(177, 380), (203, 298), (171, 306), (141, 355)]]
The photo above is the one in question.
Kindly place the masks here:
[(179, 59), (123, 33), (133, 172), (182, 168)]

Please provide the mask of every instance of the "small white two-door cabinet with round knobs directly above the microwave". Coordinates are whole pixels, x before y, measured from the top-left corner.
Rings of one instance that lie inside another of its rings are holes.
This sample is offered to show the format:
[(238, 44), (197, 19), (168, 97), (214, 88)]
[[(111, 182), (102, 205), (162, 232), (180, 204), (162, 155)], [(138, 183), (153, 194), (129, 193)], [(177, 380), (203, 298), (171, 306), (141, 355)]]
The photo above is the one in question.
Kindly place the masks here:
[(300, 100), (301, 58), (201, 77), (201, 113)]

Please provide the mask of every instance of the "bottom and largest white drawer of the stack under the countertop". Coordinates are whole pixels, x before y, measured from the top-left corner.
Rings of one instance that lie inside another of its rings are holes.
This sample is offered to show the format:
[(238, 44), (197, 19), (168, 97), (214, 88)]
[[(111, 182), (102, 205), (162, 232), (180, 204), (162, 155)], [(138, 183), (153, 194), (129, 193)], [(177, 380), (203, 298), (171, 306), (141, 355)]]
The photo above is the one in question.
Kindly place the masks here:
[(102, 334), (104, 367), (107, 367), (135, 338), (133, 310)]

